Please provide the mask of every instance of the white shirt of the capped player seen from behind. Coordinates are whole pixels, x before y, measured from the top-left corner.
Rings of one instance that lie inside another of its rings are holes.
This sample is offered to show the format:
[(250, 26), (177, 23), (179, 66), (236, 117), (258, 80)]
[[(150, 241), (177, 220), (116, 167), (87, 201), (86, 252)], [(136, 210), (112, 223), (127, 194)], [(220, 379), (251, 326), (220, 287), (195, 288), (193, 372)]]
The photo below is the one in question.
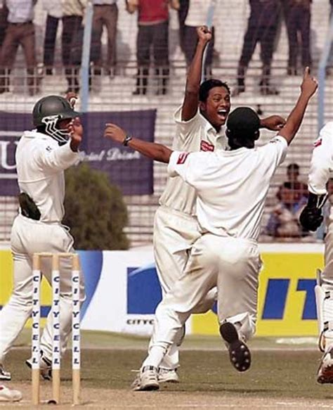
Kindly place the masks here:
[(203, 232), (257, 240), (270, 179), (286, 153), (282, 136), (260, 148), (174, 152), (168, 172), (195, 187)]

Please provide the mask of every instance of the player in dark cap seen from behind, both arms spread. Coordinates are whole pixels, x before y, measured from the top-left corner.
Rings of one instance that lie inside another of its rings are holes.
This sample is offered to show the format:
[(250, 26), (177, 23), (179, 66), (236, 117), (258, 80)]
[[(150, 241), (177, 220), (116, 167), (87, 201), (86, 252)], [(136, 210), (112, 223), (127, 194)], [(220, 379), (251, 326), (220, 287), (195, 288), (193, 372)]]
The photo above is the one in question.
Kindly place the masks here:
[(260, 120), (251, 108), (237, 108), (227, 121), (230, 150), (185, 153), (146, 143), (115, 124), (105, 136), (155, 160), (169, 162), (171, 177), (180, 176), (197, 192), (197, 217), (202, 236), (195, 241), (181, 278), (155, 312), (153, 342), (133, 390), (159, 388), (158, 368), (178, 331), (209, 290), (218, 288), (220, 333), (230, 361), (238, 371), (249, 369), (245, 341), (255, 331), (258, 276), (261, 269), (257, 238), (270, 179), (284, 160), (287, 145), (299, 129), (317, 82), (306, 69), (301, 95), (278, 136), (254, 148)]

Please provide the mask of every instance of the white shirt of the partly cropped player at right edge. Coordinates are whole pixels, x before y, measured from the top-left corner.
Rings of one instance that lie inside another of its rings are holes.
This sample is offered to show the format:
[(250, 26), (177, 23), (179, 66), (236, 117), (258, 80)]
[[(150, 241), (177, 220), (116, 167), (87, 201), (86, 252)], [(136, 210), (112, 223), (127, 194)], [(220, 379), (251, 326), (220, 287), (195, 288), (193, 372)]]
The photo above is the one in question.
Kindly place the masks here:
[(327, 193), (326, 184), (333, 171), (333, 121), (327, 122), (313, 143), (308, 190), (315, 195)]

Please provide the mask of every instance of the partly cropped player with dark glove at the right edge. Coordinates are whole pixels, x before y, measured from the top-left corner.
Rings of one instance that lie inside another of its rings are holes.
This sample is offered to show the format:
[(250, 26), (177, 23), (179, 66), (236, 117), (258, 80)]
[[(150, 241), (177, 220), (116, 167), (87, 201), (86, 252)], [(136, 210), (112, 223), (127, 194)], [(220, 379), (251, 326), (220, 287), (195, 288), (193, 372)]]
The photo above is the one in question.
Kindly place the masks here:
[[(308, 205), (303, 209), (300, 222), (305, 229), (315, 231), (322, 223), (322, 205), (328, 196), (327, 182), (333, 170), (333, 122), (327, 122), (313, 144), (308, 176)], [(319, 347), (322, 360), (318, 369), (319, 383), (333, 383), (333, 214), (329, 215), (325, 236), (325, 269), (318, 271), (315, 286)]]

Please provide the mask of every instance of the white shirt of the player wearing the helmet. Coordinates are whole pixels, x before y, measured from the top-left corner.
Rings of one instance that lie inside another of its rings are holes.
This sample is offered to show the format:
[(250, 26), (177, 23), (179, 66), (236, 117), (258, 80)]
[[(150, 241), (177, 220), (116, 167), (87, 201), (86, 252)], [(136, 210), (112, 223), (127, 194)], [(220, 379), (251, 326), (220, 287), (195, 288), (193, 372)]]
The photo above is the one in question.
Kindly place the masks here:
[(25, 131), (16, 149), (20, 192), (26, 192), (41, 212), (41, 222), (61, 222), (65, 214), (64, 170), (79, 159), (70, 142), (58, 142), (36, 131)]

